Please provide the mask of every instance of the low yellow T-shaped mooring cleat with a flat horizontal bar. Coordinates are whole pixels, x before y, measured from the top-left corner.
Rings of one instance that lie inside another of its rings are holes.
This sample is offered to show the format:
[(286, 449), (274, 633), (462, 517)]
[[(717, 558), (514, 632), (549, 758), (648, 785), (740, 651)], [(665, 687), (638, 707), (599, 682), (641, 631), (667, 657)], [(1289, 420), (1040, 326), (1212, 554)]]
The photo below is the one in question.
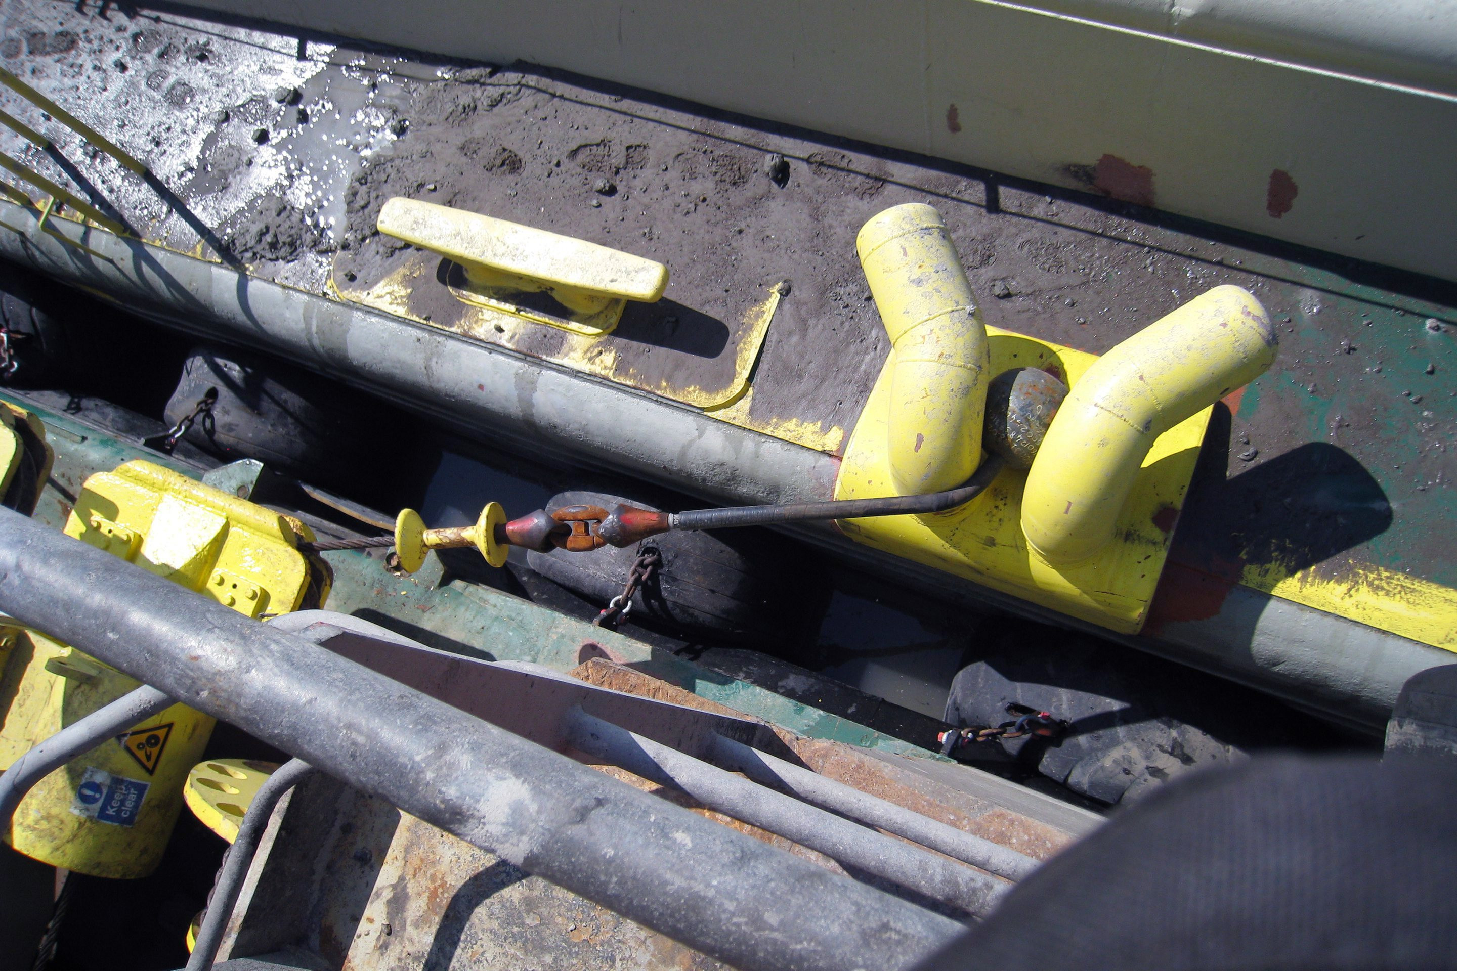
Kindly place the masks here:
[[(651, 259), (434, 202), (395, 197), (376, 226), (460, 263), (462, 300), (577, 333), (608, 333), (628, 300), (653, 303), (667, 288), (667, 266)], [(523, 306), (519, 296), (533, 293), (551, 294), (567, 313)]]

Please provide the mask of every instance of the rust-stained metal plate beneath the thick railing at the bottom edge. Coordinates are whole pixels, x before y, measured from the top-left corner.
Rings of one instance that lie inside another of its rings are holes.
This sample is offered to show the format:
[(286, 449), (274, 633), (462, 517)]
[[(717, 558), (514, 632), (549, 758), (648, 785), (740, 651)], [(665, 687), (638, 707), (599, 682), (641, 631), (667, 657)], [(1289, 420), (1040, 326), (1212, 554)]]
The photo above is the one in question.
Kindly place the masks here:
[(275, 814), (221, 954), (284, 948), (350, 971), (724, 967), (329, 779)]

